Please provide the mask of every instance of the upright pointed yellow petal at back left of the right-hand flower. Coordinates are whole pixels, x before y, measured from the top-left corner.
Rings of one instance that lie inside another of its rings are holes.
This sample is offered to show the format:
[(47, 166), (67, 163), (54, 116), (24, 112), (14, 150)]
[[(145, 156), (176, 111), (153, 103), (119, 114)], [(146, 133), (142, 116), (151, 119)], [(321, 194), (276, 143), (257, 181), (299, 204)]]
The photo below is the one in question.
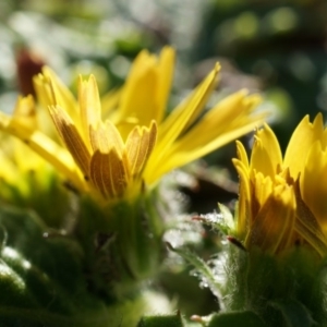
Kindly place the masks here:
[(251, 155), (251, 169), (269, 175), (271, 179), (282, 166), (282, 156), (277, 137), (272, 130), (265, 124), (255, 135)]

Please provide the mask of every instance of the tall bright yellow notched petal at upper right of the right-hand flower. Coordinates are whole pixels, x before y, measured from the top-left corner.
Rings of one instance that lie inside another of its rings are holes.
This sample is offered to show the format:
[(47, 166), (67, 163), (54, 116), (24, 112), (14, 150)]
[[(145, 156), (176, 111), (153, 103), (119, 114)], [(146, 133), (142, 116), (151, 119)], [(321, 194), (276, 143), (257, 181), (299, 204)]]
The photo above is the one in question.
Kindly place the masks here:
[(305, 116), (293, 132), (284, 155), (284, 167), (290, 168), (291, 177), (295, 180), (303, 170), (306, 156), (315, 141), (324, 140), (324, 121), (318, 113), (313, 123)]

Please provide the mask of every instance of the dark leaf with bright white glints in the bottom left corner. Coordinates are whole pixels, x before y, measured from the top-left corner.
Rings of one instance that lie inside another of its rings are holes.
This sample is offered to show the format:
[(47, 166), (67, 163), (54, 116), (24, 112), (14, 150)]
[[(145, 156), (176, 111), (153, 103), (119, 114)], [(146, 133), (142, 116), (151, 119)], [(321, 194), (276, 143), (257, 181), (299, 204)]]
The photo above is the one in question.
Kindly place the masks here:
[(71, 294), (12, 247), (1, 251), (0, 293), (0, 326), (106, 326), (101, 302)]

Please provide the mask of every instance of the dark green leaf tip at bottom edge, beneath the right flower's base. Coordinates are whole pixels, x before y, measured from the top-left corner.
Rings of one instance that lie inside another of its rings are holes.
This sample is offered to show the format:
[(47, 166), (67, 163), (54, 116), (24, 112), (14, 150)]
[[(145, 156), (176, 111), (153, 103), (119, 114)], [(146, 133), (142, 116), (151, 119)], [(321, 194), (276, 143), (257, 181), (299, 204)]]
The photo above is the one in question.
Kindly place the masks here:
[(213, 315), (207, 327), (266, 327), (264, 322), (253, 312), (229, 312)]

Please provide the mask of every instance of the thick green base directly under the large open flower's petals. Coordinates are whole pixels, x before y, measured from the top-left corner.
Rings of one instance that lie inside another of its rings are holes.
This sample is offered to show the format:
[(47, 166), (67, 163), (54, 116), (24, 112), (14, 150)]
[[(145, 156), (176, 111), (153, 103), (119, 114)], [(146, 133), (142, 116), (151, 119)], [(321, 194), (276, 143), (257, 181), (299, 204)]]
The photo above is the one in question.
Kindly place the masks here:
[(105, 207), (88, 197), (81, 199), (76, 237), (98, 292), (111, 299), (133, 296), (140, 282), (156, 276), (166, 252), (162, 211), (157, 206), (156, 193)]

